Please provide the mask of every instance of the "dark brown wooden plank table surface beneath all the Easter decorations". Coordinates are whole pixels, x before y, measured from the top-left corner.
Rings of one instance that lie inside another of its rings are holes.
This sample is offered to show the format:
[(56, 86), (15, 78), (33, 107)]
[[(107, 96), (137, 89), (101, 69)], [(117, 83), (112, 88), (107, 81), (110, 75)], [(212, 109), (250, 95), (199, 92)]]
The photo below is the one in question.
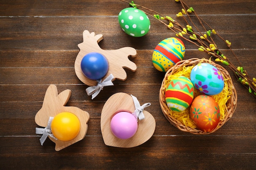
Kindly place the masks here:
[[(174, 0), (137, 0), (176, 19), (182, 7)], [(251, 77), (256, 77), (256, 1), (186, 0), (198, 14), (232, 42), (232, 48)], [(0, 0), (0, 169), (247, 169), (256, 167), (256, 99), (237, 82), (238, 101), (233, 117), (209, 135), (193, 135), (172, 126), (159, 106), (159, 88), (164, 73), (152, 64), (155, 46), (172, 31), (150, 18), (147, 35), (133, 38), (124, 33), (117, 15), (129, 7), (119, 0)], [(83, 31), (103, 34), (102, 49), (130, 46), (137, 57), (130, 60), (137, 71), (126, 70), (126, 81), (115, 80), (95, 98), (85, 92), (74, 71), (83, 42)], [(184, 42), (184, 59), (208, 58), (198, 47)], [(216, 41), (229, 59), (238, 64), (227, 47)], [(238, 65), (237, 65), (238, 66)], [(227, 67), (225, 67), (227, 68)], [(47, 87), (72, 91), (67, 106), (90, 114), (85, 138), (56, 152), (49, 140), (40, 145), (35, 115), (43, 104)], [(115, 148), (103, 142), (101, 110), (118, 92), (150, 102), (146, 110), (156, 121), (153, 136), (134, 148)]]

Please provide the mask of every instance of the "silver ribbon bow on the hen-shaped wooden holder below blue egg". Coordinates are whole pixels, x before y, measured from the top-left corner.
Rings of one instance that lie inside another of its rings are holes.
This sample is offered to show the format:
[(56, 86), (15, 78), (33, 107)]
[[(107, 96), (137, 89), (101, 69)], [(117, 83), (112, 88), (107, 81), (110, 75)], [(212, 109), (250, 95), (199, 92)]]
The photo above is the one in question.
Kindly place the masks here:
[(114, 79), (114, 76), (112, 74), (110, 74), (102, 82), (101, 82), (101, 79), (97, 80), (97, 82), (98, 82), (97, 86), (90, 86), (90, 87), (86, 88), (85, 91), (86, 91), (87, 95), (88, 96), (92, 95), (92, 99), (94, 99), (94, 97), (96, 97), (99, 94), (99, 92), (103, 89), (103, 87), (114, 85), (112, 83), (112, 79)]

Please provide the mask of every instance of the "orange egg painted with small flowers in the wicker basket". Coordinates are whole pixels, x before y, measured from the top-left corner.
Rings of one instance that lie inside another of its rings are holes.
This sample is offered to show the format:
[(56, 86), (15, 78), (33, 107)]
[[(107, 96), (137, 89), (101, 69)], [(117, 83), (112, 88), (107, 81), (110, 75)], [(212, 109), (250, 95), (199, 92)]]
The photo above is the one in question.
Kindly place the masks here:
[(190, 115), (198, 129), (211, 132), (220, 121), (220, 108), (213, 97), (199, 95), (191, 104)]

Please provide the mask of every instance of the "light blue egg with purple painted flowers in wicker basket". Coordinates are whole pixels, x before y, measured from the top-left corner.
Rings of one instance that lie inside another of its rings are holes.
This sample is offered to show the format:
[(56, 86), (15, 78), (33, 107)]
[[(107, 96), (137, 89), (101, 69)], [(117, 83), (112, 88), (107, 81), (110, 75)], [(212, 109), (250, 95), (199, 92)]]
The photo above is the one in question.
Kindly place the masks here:
[(217, 95), (224, 88), (222, 74), (209, 63), (197, 64), (191, 70), (190, 79), (195, 88), (206, 95)]

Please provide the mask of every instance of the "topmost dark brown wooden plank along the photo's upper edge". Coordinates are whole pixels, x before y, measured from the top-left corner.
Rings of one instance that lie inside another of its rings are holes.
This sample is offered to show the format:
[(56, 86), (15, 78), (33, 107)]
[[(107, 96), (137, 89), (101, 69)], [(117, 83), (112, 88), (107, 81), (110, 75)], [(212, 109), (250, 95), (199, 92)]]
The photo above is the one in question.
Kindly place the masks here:
[[(240, 0), (231, 1), (212, 1), (189, 0), (186, 3), (192, 6), (198, 13), (208, 14), (237, 14), (254, 13), (254, 0), (241, 2)], [(139, 0), (135, 3), (159, 11), (160, 13), (178, 13), (181, 9), (180, 3), (173, 1), (159, 3), (157, 0)], [(157, 5), (156, 5), (157, 4)], [(18, 2), (1, 1), (0, 15), (2, 16), (93, 16), (93, 15), (117, 15), (121, 9), (129, 7), (125, 2), (108, 0), (77, 0), (75, 3), (70, 1), (40, 1), (30, 2), (29, 0), (19, 0)], [(170, 10), (170, 7), (173, 10)], [(203, 8), (202, 8), (203, 7)], [(18, 10), (17, 10), (18, 9)], [(227, 10), (232, 9), (232, 10)], [(251, 9), (251, 10), (250, 10)], [(68, 11), (68, 13), (67, 13)], [(93, 12), (91, 12), (93, 11)]]

